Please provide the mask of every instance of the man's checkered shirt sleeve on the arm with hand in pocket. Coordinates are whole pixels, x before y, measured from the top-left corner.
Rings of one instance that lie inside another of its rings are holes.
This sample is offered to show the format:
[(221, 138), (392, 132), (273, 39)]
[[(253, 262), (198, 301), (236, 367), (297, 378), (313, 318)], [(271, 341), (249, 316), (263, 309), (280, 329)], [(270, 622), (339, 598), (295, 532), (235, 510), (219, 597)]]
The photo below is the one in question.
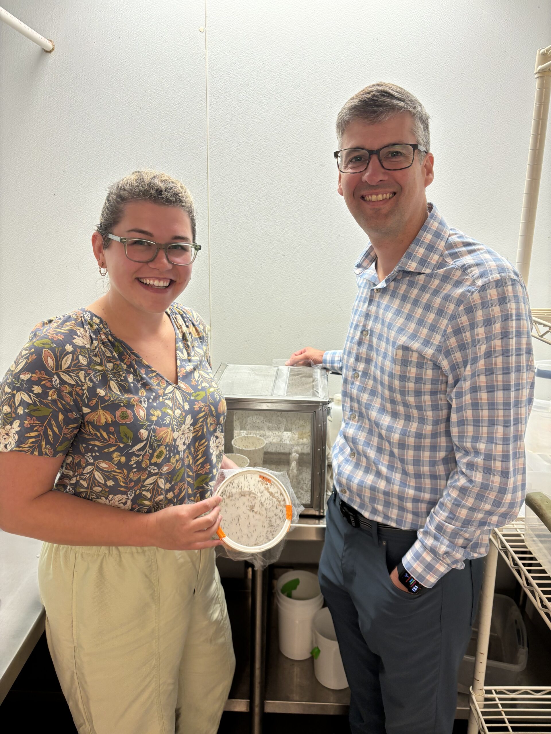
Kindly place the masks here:
[[(531, 317), (525, 286), (501, 277), (469, 294), (442, 348), (456, 466), (403, 557), (431, 587), (488, 552), (492, 529), (518, 515), (525, 494), (524, 434), (533, 402)], [(325, 357), (324, 357), (325, 363)]]

